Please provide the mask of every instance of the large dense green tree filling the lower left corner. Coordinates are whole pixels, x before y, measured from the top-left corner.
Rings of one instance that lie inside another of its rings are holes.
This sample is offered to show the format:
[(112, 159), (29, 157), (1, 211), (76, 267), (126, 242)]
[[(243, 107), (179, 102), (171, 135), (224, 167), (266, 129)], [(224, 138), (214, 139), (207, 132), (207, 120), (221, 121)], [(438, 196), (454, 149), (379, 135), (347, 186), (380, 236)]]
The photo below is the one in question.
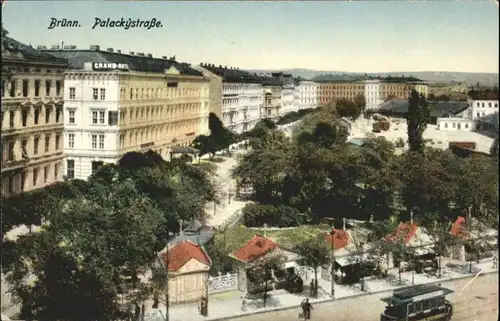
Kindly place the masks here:
[[(66, 202), (50, 225), (21, 238), (8, 274), (23, 309), (37, 320), (113, 320), (120, 276), (137, 273), (157, 246), (161, 212), (132, 182)], [(26, 276), (34, 279), (26, 283)]]

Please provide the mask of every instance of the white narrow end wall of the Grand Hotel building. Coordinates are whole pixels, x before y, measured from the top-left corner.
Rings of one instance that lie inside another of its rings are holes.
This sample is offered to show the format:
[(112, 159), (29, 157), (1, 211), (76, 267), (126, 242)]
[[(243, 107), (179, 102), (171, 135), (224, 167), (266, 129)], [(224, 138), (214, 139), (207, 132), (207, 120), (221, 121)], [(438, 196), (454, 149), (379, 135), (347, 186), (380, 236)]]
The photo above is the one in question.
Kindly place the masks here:
[(64, 82), (65, 171), (86, 179), (118, 157), (118, 75), (93, 71), (67, 72)]

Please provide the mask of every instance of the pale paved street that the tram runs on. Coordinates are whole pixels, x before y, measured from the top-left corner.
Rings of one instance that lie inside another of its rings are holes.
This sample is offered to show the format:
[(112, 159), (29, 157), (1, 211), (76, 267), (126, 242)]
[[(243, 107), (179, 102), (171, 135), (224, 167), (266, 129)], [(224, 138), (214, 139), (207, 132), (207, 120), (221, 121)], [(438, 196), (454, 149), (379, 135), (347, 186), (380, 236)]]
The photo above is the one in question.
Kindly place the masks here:
[[(454, 290), (448, 297), (454, 303), (452, 321), (496, 321), (498, 320), (498, 274), (479, 276), (465, 289), (471, 279), (443, 282), (442, 285)], [(374, 321), (379, 320), (384, 309), (380, 298), (387, 293), (359, 297), (357, 299), (318, 303), (312, 320)], [(300, 309), (254, 314), (227, 320), (241, 321), (290, 321), (298, 320)]]

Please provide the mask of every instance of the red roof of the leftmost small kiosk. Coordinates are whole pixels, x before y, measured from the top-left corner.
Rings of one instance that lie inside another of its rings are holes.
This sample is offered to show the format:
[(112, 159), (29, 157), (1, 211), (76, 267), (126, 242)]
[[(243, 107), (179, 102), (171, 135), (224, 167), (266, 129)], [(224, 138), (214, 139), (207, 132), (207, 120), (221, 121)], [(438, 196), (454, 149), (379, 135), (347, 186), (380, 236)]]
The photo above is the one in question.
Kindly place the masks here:
[[(168, 256), (167, 256), (168, 255)], [(195, 259), (203, 264), (210, 265), (210, 259), (205, 251), (190, 241), (181, 241), (162, 253), (163, 263), (169, 271), (178, 271), (189, 260)]]

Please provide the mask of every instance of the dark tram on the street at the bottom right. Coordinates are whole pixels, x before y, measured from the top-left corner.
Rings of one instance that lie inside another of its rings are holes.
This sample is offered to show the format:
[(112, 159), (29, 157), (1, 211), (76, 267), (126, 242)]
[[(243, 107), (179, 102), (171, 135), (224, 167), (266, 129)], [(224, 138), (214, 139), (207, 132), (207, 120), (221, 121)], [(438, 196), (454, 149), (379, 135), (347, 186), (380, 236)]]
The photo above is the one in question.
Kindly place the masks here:
[(380, 321), (449, 321), (453, 305), (445, 296), (452, 290), (435, 284), (422, 284), (394, 291), (391, 297), (381, 299), (387, 303)]

